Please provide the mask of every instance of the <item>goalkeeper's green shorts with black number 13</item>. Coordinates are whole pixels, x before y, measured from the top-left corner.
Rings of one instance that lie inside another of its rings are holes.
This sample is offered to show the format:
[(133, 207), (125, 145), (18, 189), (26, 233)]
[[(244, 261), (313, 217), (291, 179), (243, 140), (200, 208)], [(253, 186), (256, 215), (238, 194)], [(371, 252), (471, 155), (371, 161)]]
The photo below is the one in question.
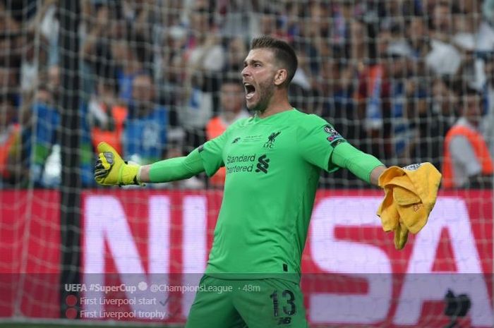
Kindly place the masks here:
[(203, 276), (186, 328), (306, 328), (299, 284)]

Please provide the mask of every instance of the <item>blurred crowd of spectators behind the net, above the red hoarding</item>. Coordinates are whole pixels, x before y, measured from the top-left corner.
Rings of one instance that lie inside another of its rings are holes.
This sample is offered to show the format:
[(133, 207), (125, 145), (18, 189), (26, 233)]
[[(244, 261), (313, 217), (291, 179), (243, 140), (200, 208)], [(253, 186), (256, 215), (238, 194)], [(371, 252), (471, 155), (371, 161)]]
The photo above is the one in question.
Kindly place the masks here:
[[(4, 188), (60, 183), (57, 2), (0, 1)], [(258, 35), (296, 49), (291, 104), (385, 164), (441, 168), (447, 132), (466, 116), (466, 95), (494, 154), (493, 0), (81, 0), (80, 11), (84, 186), (94, 186), (102, 140), (148, 164), (187, 154), (247, 117), (240, 71)], [(222, 179), (219, 172), (216, 181), (172, 187), (221, 186)], [(321, 183), (363, 186), (347, 171)]]

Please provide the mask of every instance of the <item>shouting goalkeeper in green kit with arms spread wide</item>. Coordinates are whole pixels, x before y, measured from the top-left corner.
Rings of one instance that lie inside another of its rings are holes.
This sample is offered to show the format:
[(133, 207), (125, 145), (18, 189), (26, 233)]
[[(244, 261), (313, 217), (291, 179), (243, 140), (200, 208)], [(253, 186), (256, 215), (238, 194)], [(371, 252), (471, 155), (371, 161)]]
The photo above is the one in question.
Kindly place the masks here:
[[(243, 66), (253, 118), (237, 121), (186, 157), (146, 166), (124, 163), (102, 143), (95, 179), (102, 185), (160, 183), (203, 171), (212, 176), (225, 166), (222, 207), (200, 281), (205, 288), (195, 296), (186, 327), (307, 327), (301, 256), (320, 171), (345, 168), (378, 185), (386, 167), (327, 121), (290, 106), (297, 59), (287, 43), (254, 39)], [(208, 292), (211, 286), (231, 292)]]

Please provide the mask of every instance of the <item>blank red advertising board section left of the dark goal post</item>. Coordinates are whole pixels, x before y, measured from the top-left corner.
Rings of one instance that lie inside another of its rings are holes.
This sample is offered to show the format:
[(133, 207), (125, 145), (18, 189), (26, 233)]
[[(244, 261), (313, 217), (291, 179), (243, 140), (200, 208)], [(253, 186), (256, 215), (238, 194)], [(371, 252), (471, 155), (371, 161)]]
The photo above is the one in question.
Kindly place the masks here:
[(59, 193), (0, 190), (0, 200), (0, 317), (59, 317)]

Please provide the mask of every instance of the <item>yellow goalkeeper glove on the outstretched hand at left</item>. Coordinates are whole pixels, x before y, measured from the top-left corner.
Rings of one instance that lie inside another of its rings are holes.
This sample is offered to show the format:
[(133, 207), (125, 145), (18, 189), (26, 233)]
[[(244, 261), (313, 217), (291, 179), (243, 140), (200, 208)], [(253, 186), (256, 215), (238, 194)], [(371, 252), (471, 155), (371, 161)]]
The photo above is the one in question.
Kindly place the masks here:
[(107, 142), (97, 147), (98, 160), (95, 165), (95, 180), (103, 186), (140, 185), (137, 174), (140, 166), (123, 162), (119, 153)]

